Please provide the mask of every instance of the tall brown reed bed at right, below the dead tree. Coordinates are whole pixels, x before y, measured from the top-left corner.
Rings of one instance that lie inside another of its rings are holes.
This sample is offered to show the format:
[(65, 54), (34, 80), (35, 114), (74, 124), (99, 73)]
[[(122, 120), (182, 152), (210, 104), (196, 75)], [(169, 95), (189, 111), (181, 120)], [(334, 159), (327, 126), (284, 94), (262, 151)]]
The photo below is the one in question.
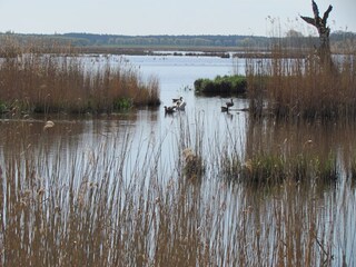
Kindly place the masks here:
[(323, 62), (314, 51), (304, 55), (300, 51), (299, 58), (290, 57), (288, 50), (277, 46), (271, 59), (247, 60), (253, 113), (260, 117), (264, 109), (280, 119), (353, 119), (355, 50), (334, 55), (333, 66)]

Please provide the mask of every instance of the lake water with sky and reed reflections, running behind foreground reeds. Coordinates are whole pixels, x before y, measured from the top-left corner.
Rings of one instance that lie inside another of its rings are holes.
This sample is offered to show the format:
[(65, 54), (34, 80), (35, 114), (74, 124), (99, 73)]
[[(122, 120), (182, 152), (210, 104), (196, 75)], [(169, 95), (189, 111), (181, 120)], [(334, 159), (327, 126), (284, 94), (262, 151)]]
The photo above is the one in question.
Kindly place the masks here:
[[(7, 191), (11, 191), (11, 196), (20, 196), (11, 202), (14, 207), (32, 185), (29, 177), (36, 174), (36, 191), (44, 188), (44, 199), (53, 201), (43, 201), (42, 208), (53, 205), (47, 214), (51, 214), (56, 205), (62, 208), (59, 216), (60, 225), (65, 225), (62, 233), (70, 227), (66, 224), (69, 224), (71, 209), (87, 205), (89, 211), (80, 214), (82, 217), (77, 224), (81, 226), (80, 221), (83, 221), (90, 227), (82, 226), (80, 233), (88, 236), (87, 231), (91, 230), (90, 234), (95, 234), (96, 227), (90, 221), (96, 221), (103, 214), (105, 224), (113, 221), (110, 225), (112, 228), (120, 226), (127, 233), (135, 234), (136, 226), (139, 233), (136, 240), (141, 238), (145, 246), (149, 244), (148, 251), (145, 251), (148, 258), (154, 257), (154, 248), (167, 253), (172, 246), (170, 251), (174, 251), (174, 241), (179, 246), (188, 246), (191, 241), (199, 246), (187, 250), (205, 248), (208, 251), (206, 255), (212, 255), (218, 266), (227, 265), (226, 258), (230, 258), (236, 266), (286, 266), (289, 264), (286, 258), (296, 266), (322, 265), (325, 260), (339, 266), (343, 255), (346, 255), (350, 266), (355, 264), (356, 196), (345, 171), (339, 172), (334, 184), (286, 182), (256, 189), (228, 182), (221, 166), (225, 157), (231, 155), (247, 160), (260, 151), (287, 157), (308, 150), (320, 161), (334, 151), (338, 169), (343, 170), (355, 156), (354, 123), (256, 121), (243, 111), (248, 107), (247, 99), (234, 98), (236, 109), (221, 112), (220, 107), (227, 98), (198, 97), (184, 89), (191, 87), (196, 78), (229, 73), (233, 67), (228, 59), (126, 58), (145, 75), (160, 76), (164, 103), (170, 105), (171, 98), (181, 96), (187, 101), (186, 110), (172, 116), (166, 116), (162, 107), (102, 117), (53, 116), (55, 127), (47, 130), (43, 130), (42, 118), (1, 120), (3, 199)], [(185, 148), (191, 148), (202, 158), (205, 172), (199, 184), (184, 180), (181, 152)], [(16, 181), (13, 185), (12, 180)], [(108, 188), (103, 187), (98, 197), (92, 190), (98, 190), (96, 185), (102, 182)], [(78, 202), (76, 197), (66, 195), (67, 191), (72, 194), (70, 189), (78, 196)], [(87, 198), (80, 198), (82, 191), (88, 194), (85, 195)], [(101, 201), (102, 214), (96, 214), (97, 200)], [(75, 205), (71, 206), (71, 202)], [(6, 210), (2, 214), (13, 216)], [(91, 214), (95, 217), (90, 217)], [(47, 217), (50, 218), (43, 216)], [(164, 224), (164, 219), (168, 225)], [(22, 220), (18, 220), (19, 226)], [(31, 226), (36, 225), (34, 219), (29, 220), (31, 222), (26, 229), (32, 229)], [(154, 222), (149, 225), (147, 221)], [(141, 231), (140, 226), (146, 226), (146, 222), (149, 227)], [(125, 236), (127, 234), (123, 231), (118, 234), (121, 228), (116, 229), (115, 235), (111, 230), (108, 230), (110, 241), (106, 245), (130, 244), (121, 247), (129, 256), (139, 250), (136, 240)], [(159, 239), (162, 231), (168, 236)], [(177, 237), (176, 233), (184, 233), (185, 236)], [(17, 231), (12, 234), (16, 236)], [(177, 239), (165, 243), (164, 248), (159, 247), (159, 240), (168, 237)], [(98, 244), (102, 241), (100, 238)], [(82, 250), (88, 249), (87, 243), (81, 245)], [(110, 247), (110, 255), (120, 250), (117, 247)], [(55, 251), (60, 250), (57, 248), (56, 244), (51, 247)], [(142, 251), (139, 254), (142, 255)]]

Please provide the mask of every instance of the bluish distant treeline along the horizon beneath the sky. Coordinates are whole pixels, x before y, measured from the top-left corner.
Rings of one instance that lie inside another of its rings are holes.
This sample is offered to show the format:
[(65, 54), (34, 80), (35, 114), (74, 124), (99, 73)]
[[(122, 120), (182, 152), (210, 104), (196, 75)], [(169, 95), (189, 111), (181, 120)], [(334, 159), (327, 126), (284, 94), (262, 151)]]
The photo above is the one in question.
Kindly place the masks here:
[[(16, 37), (19, 42), (41, 40), (46, 42), (70, 43), (75, 47), (176, 47), (176, 48), (256, 48), (268, 49), (278, 43), (288, 48), (308, 48), (318, 43), (316, 37), (304, 37), (290, 30), (286, 37), (259, 36), (119, 36), (93, 33), (63, 33), (63, 34), (20, 34), (0, 33), (0, 41), (4, 36)], [(345, 41), (355, 43), (356, 33), (337, 31), (332, 33), (332, 46), (339, 48)]]

